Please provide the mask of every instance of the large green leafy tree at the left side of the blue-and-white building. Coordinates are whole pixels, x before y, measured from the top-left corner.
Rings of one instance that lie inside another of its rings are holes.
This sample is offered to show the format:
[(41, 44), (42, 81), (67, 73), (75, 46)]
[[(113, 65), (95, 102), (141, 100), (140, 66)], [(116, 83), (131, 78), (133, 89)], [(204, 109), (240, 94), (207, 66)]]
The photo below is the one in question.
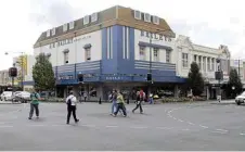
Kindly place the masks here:
[(54, 73), (52, 64), (44, 53), (40, 53), (36, 58), (36, 64), (33, 67), (33, 78), (35, 89), (51, 91), (55, 86)]

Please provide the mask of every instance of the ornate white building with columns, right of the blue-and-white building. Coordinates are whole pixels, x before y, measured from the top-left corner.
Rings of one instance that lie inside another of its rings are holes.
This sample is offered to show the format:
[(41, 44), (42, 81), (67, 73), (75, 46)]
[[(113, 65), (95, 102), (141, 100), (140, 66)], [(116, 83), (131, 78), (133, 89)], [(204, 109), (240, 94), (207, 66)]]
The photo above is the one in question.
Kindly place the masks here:
[(221, 71), (223, 71), (223, 80), (221, 84), (227, 84), (230, 72), (230, 51), (227, 46), (220, 45), (218, 48), (209, 48), (193, 43), (186, 36), (180, 35), (176, 39), (178, 52), (177, 75), (188, 77), (191, 63), (196, 62), (201, 73), (205, 79), (204, 96), (207, 99), (216, 99), (218, 91), (218, 80), (215, 79), (215, 72), (218, 71), (217, 59), (221, 60)]

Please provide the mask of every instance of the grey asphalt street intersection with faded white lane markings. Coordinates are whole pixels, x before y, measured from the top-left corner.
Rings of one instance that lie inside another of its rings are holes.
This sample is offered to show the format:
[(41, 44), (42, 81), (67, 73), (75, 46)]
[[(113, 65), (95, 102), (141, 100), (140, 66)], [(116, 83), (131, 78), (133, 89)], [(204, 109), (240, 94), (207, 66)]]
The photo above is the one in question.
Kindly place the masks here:
[(245, 150), (245, 106), (176, 103), (144, 105), (144, 114), (109, 115), (111, 104), (78, 104), (78, 124), (66, 125), (66, 105), (41, 103), (29, 121), (29, 104), (0, 104), (0, 150), (164, 151)]

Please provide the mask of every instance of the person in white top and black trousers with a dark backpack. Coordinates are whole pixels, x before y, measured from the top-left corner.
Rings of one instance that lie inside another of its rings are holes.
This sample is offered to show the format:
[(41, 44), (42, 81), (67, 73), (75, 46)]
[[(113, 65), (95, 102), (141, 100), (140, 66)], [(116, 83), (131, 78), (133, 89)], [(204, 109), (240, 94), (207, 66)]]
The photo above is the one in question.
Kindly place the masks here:
[(77, 110), (77, 98), (73, 94), (73, 91), (69, 92), (69, 96), (66, 98), (66, 104), (67, 104), (67, 119), (66, 124), (69, 124), (69, 118), (73, 113), (73, 117), (75, 123), (78, 123), (79, 119), (76, 116), (76, 110)]

